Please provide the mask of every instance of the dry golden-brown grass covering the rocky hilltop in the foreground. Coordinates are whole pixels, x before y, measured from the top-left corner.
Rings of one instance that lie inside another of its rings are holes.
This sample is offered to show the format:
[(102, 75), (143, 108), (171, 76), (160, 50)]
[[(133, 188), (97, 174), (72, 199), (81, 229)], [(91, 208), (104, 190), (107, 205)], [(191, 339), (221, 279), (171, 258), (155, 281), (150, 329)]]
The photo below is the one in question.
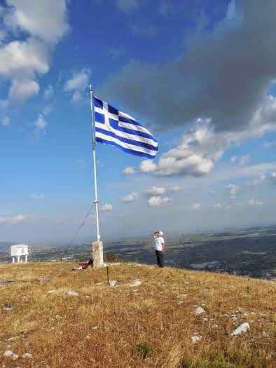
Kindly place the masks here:
[[(0, 280), (18, 281), (0, 285), (2, 367), (272, 367), (272, 282), (118, 264), (109, 268), (118, 287), (109, 287), (105, 268), (75, 273), (71, 266), (0, 266)], [(137, 278), (142, 285), (130, 288)], [(45, 279), (52, 281), (34, 281)], [(6, 311), (5, 304), (15, 308)], [(206, 313), (195, 315), (197, 305)], [(250, 331), (230, 336), (241, 322)], [(202, 336), (198, 343), (191, 341), (195, 334)], [(151, 344), (153, 354), (134, 356), (138, 343)], [(4, 357), (8, 349), (18, 360)]]

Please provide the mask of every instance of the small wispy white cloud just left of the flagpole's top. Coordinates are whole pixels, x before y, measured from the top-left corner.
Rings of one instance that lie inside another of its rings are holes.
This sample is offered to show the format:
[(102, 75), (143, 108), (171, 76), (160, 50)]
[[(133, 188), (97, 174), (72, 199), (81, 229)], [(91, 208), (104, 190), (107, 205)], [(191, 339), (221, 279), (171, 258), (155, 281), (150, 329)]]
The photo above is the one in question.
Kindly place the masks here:
[(71, 93), (71, 102), (78, 103), (83, 100), (83, 93), (85, 88), (88, 87), (89, 77), (90, 70), (81, 69), (80, 71), (75, 71), (71, 78), (64, 83), (64, 91)]

